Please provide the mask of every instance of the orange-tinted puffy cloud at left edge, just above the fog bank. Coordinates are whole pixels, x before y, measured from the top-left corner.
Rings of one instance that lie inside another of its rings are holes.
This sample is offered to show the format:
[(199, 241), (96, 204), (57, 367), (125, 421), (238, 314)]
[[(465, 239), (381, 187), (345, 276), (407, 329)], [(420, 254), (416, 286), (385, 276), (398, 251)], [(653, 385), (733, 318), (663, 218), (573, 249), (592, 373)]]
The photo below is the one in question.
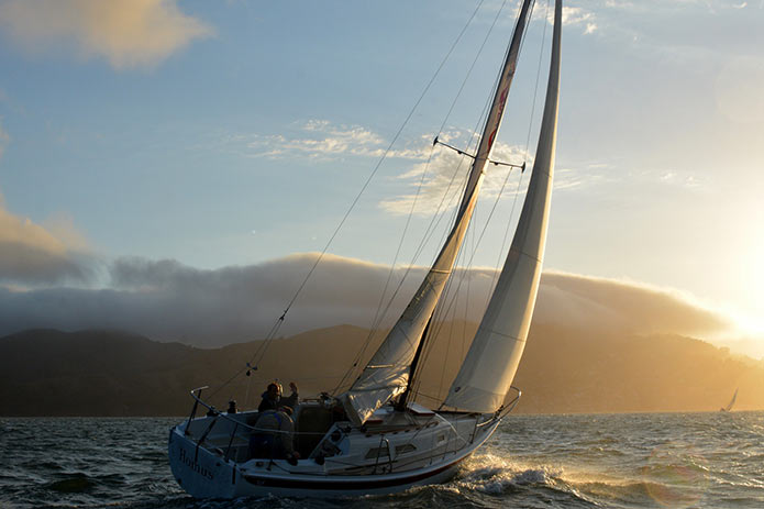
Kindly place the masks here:
[(32, 286), (86, 281), (92, 269), (85, 246), (70, 219), (59, 215), (44, 228), (10, 213), (0, 196), (0, 281)]

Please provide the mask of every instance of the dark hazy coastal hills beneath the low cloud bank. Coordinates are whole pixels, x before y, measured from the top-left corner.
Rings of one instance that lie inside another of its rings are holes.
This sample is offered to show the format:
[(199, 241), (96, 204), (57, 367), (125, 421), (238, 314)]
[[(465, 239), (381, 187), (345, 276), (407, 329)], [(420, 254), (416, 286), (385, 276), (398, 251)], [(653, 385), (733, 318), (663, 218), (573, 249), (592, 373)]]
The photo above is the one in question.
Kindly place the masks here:
[[(420, 402), (433, 405), (447, 390), (468, 347), (458, 338), (474, 329), (442, 329), (427, 354)], [(246, 362), (263, 342), (204, 350), (117, 331), (23, 331), (0, 339), (0, 416), (182, 416), (189, 389), (203, 385), (218, 408), (230, 398), (252, 407), (276, 377), (297, 381), (303, 397), (317, 395), (335, 389), (367, 338), (365, 329), (339, 325), (276, 339), (247, 377)], [(679, 335), (534, 325), (514, 385), (521, 413), (716, 411), (735, 388), (735, 410), (764, 409), (764, 364)]]

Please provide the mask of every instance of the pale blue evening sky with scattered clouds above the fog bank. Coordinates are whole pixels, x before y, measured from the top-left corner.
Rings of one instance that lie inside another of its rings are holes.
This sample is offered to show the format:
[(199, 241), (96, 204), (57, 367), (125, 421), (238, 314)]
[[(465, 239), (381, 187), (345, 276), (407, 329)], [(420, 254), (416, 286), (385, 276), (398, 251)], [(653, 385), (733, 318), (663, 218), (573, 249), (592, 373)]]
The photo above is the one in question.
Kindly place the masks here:
[[(532, 159), (545, 10), (501, 161)], [(147, 306), (141, 292), (170, 279), (163, 296), (210, 300), (228, 288), (210, 276), (321, 252), (362, 189), (332, 259), (427, 265), (466, 170), (431, 141), (474, 144), (516, 12), (496, 0), (0, 0), (5, 329), (98, 327), (97, 303), (115, 295), (112, 313), (140, 317), (121, 306)], [(760, 0), (566, 2), (551, 274), (671, 295), (764, 338), (762, 26)], [(527, 182), (487, 175), (462, 264), (498, 266)], [(125, 267), (153, 278), (125, 283)], [(71, 321), (79, 305), (68, 321), (43, 311), (78, 298), (88, 319)], [(165, 311), (182, 314), (181, 300)], [(764, 355), (764, 340), (746, 341)]]

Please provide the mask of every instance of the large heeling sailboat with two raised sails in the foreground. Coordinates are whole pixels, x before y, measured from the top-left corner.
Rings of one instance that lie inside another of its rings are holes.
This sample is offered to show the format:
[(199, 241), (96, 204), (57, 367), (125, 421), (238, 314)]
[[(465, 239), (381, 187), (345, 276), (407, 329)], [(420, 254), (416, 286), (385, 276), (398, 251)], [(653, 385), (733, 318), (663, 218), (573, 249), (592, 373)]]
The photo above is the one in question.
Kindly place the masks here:
[[(475, 209), (531, 12), (524, 0), (453, 226), (435, 262), (352, 386), (295, 408), (300, 458), (253, 457), (257, 412), (217, 411), (191, 391), (190, 416), (169, 433), (169, 463), (197, 498), (389, 494), (442, 483), (517, 405), (512, 387), (536, 300), (554, 174), (562, 0), (555, 0), (550, 74), (532, 175), (517, 230), (479, 328), (438, 409), (412, 399), (429, 324)], [(337, 418), (337, 416), (340, 416)]]

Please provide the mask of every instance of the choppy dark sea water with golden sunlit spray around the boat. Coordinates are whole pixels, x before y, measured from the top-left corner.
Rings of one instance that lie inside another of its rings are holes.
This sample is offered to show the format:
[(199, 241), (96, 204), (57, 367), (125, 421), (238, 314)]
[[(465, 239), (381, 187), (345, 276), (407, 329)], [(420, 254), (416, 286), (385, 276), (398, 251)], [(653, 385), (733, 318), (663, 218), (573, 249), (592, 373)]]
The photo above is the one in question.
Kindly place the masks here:
[(0, 419), (0, 508), (764, 508), (764, 412), (510, 416), (447, 484), (337, 499), (187, 496), (179, 419)]

